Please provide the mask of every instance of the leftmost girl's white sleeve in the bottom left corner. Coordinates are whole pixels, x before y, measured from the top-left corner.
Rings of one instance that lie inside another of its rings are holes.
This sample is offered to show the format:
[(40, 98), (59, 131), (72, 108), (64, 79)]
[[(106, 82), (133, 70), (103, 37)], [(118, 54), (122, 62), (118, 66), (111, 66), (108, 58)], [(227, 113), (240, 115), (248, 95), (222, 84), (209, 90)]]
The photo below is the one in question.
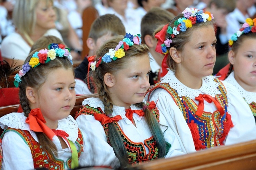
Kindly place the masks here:
[(34, 169), (33, 158), (27, 143), (15, 132), (6, 132), (2, 139), (4, 170)]

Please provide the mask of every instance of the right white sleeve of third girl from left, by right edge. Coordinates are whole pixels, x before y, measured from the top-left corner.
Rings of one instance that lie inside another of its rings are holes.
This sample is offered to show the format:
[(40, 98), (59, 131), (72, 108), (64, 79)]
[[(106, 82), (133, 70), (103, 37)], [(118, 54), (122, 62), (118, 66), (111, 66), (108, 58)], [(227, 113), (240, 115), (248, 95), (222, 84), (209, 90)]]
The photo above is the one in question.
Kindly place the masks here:
[(228, 97), (228, 113), (234, 125), (226, 137), (225, 145), (256, 139), (256, 126), (249, 105), (232, 84), (222, 81)]

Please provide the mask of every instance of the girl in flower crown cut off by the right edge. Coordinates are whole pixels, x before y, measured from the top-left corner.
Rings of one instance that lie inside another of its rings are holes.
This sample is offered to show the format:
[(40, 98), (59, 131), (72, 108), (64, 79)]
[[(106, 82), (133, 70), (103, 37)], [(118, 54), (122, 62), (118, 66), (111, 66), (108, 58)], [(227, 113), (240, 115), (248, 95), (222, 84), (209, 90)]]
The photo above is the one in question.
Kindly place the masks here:
[(247, 18), (229, 40), (226, 82), (233, 84), (250, 106), (256, 121), (256, 18)]

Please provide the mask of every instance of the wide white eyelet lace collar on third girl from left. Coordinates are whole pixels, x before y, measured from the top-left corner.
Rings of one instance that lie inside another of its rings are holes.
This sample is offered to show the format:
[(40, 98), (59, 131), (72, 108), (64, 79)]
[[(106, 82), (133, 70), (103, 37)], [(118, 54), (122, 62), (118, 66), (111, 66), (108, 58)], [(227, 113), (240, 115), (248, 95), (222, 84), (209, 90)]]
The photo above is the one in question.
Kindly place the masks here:
[(194, 98), (199, 94), (208, 94), (215, 97), (216, 94), (221, 94), (217, 89), (219, 83), (214, 81), (215, 76), (207, 76), (202, 78), (202, 86), (199, 89), (190, 89), (182, 84), (174, 75), (174, 72), (169, 69), (168, 73), (160, 80), (160, 83), (169, 83), (171, 88), (177, 90), (179, 96), (187, 96)]

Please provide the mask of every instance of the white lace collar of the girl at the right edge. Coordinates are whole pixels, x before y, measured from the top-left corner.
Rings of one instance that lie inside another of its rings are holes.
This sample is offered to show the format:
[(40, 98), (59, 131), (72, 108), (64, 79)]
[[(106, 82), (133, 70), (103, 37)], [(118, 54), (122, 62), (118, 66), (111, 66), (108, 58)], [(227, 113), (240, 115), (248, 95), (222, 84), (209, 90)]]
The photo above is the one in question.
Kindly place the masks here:
[(244, 90), (244, 88), (242, 88), (240, 86), (240, 84), (237, 82), (237, 80), (234, 78), (234, 72), (232, 72), (226, 79), (226, 82), (229, 82), (230, 84), (232, 84), (234, 87), (237, 88), (237, 90), (239, 91), (239, 93), (243, 96), (243, 98), (245, 99), (245, 101), (248, 104), (251, 104), (252, 102), (256, 102), (256, 93), (255, 92), (248, 92), (246, 90)]

